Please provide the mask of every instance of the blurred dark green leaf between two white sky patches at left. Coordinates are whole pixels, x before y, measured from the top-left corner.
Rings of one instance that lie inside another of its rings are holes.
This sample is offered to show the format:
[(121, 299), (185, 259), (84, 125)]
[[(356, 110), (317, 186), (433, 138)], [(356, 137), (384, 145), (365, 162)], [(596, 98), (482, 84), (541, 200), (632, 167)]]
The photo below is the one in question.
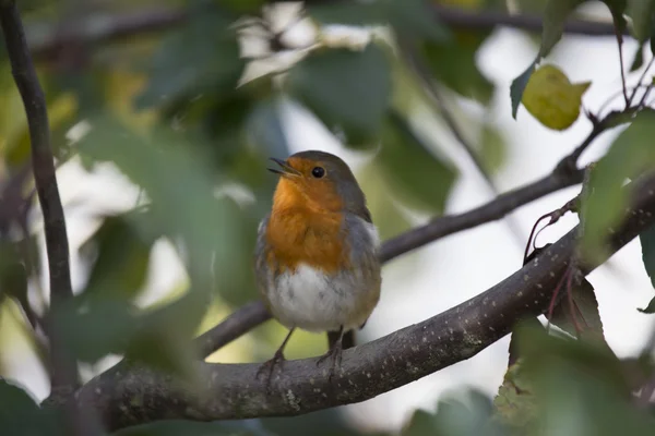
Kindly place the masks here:
[(94, 239), (81, 247), (86, 251), (88, 244), (95, 244), (97, 249), (86, 292), (127, 300), (136, 295), (145, 283), (151, 249), (158, 235), (139, 232), (131, 220), (147, 217), (142, 213), (107, 217)]

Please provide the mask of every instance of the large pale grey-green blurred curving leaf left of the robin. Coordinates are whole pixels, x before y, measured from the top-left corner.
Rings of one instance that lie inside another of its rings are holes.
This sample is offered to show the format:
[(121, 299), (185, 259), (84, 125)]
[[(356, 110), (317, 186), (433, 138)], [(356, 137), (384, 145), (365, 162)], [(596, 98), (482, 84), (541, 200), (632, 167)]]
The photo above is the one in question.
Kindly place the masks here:
[(252, 250), (239, 241), (243, 221), (240, 209), (229, 198), (214, 197), (219, 178), (212, 174), (201, 154), (190, 152), (179, 134), (160, 128), (151, 136), (135, 135), (105, 117), (90, 123), (93, 129), (79, 143), (80, 153), (94, 161), (114, 162), (145, 190), (151, 219), (147, 223), (134, 221), (138, 233), (154, 232), (176, 241), (190, 278), (189, 291), (179, 300), (141, 318), (130, 342), (130, 355), (147, 361), (157, 349), (164, 367), (177, 365), (178, 371), (191, 373), (193, 352), (184, 344), (191, 342), (215, 282), (230, 286), (233, 277), (238, 277), (236, 271), (243, 267), (242, 252)]

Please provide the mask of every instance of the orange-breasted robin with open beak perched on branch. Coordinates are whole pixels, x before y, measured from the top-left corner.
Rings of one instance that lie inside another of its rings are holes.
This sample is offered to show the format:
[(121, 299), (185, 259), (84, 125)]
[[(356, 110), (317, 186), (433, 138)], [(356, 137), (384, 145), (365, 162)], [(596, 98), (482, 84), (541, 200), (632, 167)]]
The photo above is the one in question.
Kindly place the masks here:
[[(261, 221), (255, 276), (275, 319), (289, 329), (259, 375), (284, 362), (296, 328), (327, 332), (330, 378), (354, 330), (366, 324), (380, 300), (380, 239), (366, 197), (348, 166), (323, 152), (301, 152), (286, 161), (271, 158), (279, 175), (271, 213)], [(344, 347), (345, 344), (345, 347)]]

